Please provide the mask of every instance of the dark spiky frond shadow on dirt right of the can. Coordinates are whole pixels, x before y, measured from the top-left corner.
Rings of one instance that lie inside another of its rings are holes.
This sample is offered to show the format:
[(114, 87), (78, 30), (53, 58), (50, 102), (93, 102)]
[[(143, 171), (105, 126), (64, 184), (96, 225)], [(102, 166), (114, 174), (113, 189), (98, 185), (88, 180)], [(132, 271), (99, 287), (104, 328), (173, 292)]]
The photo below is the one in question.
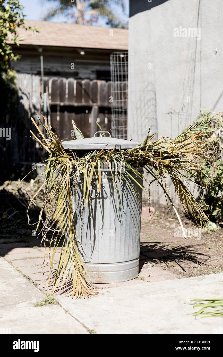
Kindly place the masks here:
[(141, 270), (142, 266), (147, 263), (165, 263), (167, 265), (170, 262), (175, 262), (183, 271), (185, 270), (180, 265), (180, 262), (192, 262), (198, 265), (205, 265), (205, 261), (209, 256), (198, 252), (197, 249), (199, 247), (201, 247), (201, 244), (179, 245), (174, 247), (170, 244), (160, 242), (140, 243), (139, 269)]

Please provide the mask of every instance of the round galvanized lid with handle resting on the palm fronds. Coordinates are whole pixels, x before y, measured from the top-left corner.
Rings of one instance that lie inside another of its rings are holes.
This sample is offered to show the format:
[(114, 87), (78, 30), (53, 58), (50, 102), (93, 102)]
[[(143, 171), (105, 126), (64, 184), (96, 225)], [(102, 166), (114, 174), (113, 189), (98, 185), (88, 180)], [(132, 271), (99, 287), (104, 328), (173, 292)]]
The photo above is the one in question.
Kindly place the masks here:
[[(109, 136), (97, 136), (97, 133), (106, 133)], [(64, 149), (69, 150), (98, 150), (98, 149), (132, 149), (136, 145), (140, 145), (140, 142), (116, 139), (111, 137), (108, 131), (96, 131), (94, 137), (79, 140), (69, 140), (62, 143)]]

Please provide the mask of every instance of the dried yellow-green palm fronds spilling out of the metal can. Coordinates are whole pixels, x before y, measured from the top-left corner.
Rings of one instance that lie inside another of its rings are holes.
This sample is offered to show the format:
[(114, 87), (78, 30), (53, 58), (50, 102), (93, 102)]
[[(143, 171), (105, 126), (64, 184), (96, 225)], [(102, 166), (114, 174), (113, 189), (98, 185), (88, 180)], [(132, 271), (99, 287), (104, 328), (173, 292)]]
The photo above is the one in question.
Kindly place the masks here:
[[(44, 190), (45, 201), (40, 211), (36, 231), (42, 222), (41, 232), (44, 244), (48, 240), (48, 233), (53, 232), (52, 238), (49, 239), (49, 252), (46, 251), (50, 262), (49, 284), (52, 286), (52, 292), (59, 284), (60, 289), (62, 286), (66, 286), (72, 277), (72, 298), (74, 296), (76, 298), (88, 297), (98, 293), (93, 285), (88, 282), (84, 267), (84, 252), (78, 241), (74, 217), (75, 211), (84, 207), (86, 202), (89, 202), (89, 207), (91, 207), (90, 187), (92, 180), (96, 181), (97, 191), (100, 193), (100, 164), (103, 161), (109, 167), (115, 189), (118, 190), (117, 180), (120, 180), (120, 183), (124, 180), (131, 188), (132, 194), (136, 194), (136, 188), (132, 182), (140, 186), (140, 183), (135, 180), (135, 176), (143, 178), (141, 168), (145, 167), (145, 170), (153, 177), (151, 182), (156, 181), (163, 188), (166, 199), (173, 206), (180, 221), (176, 208), (171, 201), (170, 192), (168, 193), (166, 177), (169, 175), (184, 209), (191, 213), (202, 225), (209, 222), (189, 191), (190, 185), (194, 183), (193, 177), (199, 177), (199, 171), (205, 162), (210, 161), (207, 146), (208, 129), (204, 127), (204, 124), (207, 124), (204, 120), (192, 123), (174, 140), (162, 136), (160, 139), (152, 141), (154, 135), (148, 135), (146, 140), (133, 149), (108, 150), (104, 148), (87, 152), (84, 156), (78, 154), (78, 151), (65, 150), (62, 141), (52, 131), (45, 118), (43, 128), (46, 137), (35, 121), (33, 119), (32, 121), (40, 137), (37, 137), (33, 132), (31, 134), (49, 153), (46, 160), (45, 181), (34, 197), (38, 195), (40, 190)], [(74, 123), (73, 125), (77, 139), (83, 137), (76, 125)], [(111, 163), (115, 164), (115, 170), (112, 170)], [(123, 167), (126, 167), (127, 170), (123, 170)], [(81, 175), (83, 178), (83, 199), (81, 206), (75, 207), (73, 192), (77, 191)], [(145, 180), (148, 179), (145, 178)], [(149, 182), (149, 195), (151, 182)], [(140, 188), (143, 189), (141, 186)], [(29, 213), (27, 214), (29, 217)], [(183, 228), (181, 221), (180, 224)], [(60, 240), (62, 241), (62, 250), (59, 265), (56, 273), (52, 275), (53, 259)]]

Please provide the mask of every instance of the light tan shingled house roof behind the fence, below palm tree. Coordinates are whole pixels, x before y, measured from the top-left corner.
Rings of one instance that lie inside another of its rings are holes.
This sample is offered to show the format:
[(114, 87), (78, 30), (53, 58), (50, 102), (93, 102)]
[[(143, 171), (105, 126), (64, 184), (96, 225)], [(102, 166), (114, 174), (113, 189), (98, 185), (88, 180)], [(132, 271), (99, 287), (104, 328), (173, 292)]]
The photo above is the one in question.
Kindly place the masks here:
[(126, 29), (33, 20), (26, 20), (25, 24), (40, 29), (33, 35), (32, 31), (19, 27), (19, 38), (24, 39), (21, 45), (128, 49), (129, 31)]

